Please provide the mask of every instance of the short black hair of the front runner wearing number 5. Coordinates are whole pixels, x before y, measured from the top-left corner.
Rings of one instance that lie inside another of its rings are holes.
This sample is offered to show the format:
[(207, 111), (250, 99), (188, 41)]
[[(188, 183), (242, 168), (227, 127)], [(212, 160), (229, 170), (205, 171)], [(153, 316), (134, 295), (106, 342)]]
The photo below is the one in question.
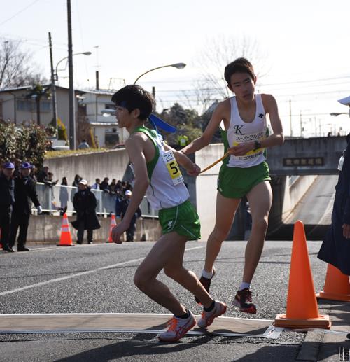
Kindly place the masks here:
[(116, 106), (126, 108), (129, 113), (134, 111), (134, 109), (139, 109), (140, 120), (147, 120), (153, 109), (155, 109), (155, 99), (153, 95), (135, 84), (126, 85), (114, 93), (112, 102), (114, 102)]

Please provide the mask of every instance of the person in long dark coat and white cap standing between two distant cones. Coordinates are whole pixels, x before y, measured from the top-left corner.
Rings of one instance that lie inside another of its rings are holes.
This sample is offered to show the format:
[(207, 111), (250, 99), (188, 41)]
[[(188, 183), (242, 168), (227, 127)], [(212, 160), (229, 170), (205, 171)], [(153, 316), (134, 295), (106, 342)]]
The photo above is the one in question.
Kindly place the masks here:
[(80, 180), (78, 187), (73, 197), (76, 221), (72, 221), (71, 225), (78, 230), (78, 244), (83, 244), (84, 230), (87, 230), (87, 243), (92, 244), (93, 230), (100, 228), (96, 214), (97, 201), (90, 188), (87, 188), (86, 180)]

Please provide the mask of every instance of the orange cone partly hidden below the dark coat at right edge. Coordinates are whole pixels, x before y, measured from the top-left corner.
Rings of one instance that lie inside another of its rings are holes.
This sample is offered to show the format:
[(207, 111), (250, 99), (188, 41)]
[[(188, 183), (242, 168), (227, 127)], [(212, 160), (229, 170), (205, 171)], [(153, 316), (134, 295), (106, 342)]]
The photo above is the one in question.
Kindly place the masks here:
[(343, 274), (337, 267), (328, 264), (325, 286), (323, 286), (323, 291), (316, 294), (316, 298), (350, 302), (349, 275)]

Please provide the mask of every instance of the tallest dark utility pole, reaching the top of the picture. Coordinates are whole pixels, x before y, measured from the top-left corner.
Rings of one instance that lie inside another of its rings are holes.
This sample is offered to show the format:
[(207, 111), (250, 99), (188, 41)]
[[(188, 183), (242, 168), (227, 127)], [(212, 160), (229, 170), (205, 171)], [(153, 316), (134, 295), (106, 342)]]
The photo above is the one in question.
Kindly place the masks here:
[(68, 69), (69, 69), (69, 148), (76, 149), (76, 115), (73, 85), (73, 43), (71, 40), (71, 0), (66, 1), (68, 24)]

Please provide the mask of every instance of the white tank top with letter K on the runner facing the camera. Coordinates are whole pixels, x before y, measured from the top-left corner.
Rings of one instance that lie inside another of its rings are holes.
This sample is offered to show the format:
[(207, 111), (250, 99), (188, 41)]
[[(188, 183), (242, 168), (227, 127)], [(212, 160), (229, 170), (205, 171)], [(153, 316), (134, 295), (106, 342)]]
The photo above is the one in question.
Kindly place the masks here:
[[(228, 144), (229, 147), (244, 144), (249, 141), (261, 141), (268, 135), (266, 123), (266, 113), (262, 104), (261, 95), (255, 95), (256, 112), (253, 122), (247, 123), (239, 116), (236, 97), (230, 98), (231, 102), (231, 118), (230, 126), (228, 127)], [(249, 151), (244, 156), (231, 155), (228, 160), (228, 167), (252, 167), (260, 165), (266, 160), (265, 151), (263, 148), (258, 148), (256, 151)]]

